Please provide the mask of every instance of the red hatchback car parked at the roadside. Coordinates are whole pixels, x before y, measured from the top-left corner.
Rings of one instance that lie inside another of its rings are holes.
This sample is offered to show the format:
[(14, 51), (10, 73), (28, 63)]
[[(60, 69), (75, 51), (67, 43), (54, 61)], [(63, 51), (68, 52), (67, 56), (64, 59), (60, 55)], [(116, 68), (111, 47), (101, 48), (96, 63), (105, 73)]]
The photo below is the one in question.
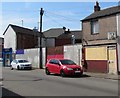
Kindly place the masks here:
[(69, 59), (51, 59), (47, 62), (45, 72), (47, 75), (50, 73), (60, 74), (64, 76), (82, 75), (83, 69), (81, 66), (76, 65)]

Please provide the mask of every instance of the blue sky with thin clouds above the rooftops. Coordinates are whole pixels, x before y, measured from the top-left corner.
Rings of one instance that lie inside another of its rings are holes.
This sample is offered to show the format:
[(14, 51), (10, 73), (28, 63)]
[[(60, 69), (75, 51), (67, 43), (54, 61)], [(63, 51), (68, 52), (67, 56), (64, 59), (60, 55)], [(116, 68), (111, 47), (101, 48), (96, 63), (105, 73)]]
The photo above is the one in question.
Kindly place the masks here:
[[(44, 10), (42, 31), (63, 26), (81, 30), (81, 20), (94, 12), (94, 5), (95, 2), (1, 2), (0, 37), (4, 37), (9, 24), (39, 28), (41, 8)], [(118, 2), (100, 2), (101, 9), (117, 5)]]

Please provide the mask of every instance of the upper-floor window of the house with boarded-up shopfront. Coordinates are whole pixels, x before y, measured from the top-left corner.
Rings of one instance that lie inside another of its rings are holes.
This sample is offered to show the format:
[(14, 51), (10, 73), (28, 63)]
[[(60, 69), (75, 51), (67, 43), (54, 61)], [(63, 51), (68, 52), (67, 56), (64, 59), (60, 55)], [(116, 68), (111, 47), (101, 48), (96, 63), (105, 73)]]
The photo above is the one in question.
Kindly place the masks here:
[(98, 20), (91, 21), (91, 33), (98, 34), (99, 33), (99, 23)]

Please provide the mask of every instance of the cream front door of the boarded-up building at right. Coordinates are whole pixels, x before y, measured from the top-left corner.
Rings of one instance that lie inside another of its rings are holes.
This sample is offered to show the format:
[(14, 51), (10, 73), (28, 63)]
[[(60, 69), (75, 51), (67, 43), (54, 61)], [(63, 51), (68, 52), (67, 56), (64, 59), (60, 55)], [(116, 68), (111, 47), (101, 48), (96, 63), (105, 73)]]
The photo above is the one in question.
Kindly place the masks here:
[(109, 74), (117, 74), (117, 57), (115, 46), (108, 48), (108, 59)]

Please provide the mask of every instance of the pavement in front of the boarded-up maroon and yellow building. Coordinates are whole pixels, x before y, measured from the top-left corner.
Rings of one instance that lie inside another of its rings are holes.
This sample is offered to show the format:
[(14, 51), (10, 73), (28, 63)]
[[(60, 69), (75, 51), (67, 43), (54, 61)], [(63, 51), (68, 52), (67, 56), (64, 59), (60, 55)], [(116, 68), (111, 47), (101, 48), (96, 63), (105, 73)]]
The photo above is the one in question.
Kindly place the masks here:
[(91, 77), (95, 77), (95, 78), (120, 80), (120, 75), (112, 75), (112, 74), (105, 74), (105, 73), (93, 73), (93, 72), (84, 72), (84, 74), (91, 76)]

